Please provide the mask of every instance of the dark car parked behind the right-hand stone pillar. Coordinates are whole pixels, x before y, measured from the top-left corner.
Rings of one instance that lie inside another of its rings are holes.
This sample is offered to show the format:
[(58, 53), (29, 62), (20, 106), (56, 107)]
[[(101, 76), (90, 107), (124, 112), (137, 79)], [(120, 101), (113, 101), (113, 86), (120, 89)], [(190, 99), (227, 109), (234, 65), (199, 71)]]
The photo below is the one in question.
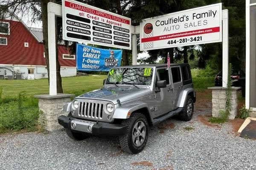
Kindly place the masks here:
[[(245, 73), (240, 69), (232, 70), (231, 83), (234, 87), (242, 88), (242, 96), (245, 96)], [(215, 77), (215, 86), (222, 86), (222, 71)]]

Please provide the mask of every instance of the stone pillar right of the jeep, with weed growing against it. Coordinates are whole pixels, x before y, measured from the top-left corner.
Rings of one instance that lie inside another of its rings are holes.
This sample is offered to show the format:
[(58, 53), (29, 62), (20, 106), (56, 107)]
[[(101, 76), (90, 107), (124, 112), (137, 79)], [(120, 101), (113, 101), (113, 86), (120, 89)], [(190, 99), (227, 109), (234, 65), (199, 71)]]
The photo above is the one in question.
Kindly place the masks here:
[[(225, 110), (226, 107), (226, 90), (223, 87), (210, 87), (208, 89), (212, 90), (212, 117), (219, 117), (219, 111)], [(238, 104), (238, 90), (241, 87), (231, 88), (231, 111), (229, 119), (235, 119), (237, 116), (237, 104)]]

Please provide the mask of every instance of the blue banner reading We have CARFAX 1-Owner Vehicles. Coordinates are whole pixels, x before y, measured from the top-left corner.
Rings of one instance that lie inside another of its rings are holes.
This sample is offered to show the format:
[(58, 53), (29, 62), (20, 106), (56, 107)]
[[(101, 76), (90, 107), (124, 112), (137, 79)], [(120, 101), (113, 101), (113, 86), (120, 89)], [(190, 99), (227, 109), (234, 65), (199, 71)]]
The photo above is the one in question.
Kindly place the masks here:
[(120, 66), (122, 50), (107, 50), (76, 44), (76, 67), (79, 71), (109, 71)]

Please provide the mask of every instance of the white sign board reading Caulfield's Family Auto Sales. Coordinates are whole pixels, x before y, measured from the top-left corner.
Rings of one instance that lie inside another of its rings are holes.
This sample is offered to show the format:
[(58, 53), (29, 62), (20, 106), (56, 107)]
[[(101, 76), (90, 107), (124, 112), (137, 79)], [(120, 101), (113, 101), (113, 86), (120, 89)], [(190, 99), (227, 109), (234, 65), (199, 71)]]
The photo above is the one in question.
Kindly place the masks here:
[(140, 50), (222, 41), (221, 3), (142, 20)]

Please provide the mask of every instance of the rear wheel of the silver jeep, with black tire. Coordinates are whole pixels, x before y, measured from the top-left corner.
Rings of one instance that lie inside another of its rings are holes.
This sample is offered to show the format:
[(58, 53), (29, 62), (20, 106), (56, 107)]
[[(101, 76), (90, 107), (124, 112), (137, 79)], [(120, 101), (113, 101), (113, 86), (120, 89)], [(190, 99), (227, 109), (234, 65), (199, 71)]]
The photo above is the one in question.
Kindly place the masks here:
[(194, 103), (193, 103), (192, 97), (187, 96), (184, 111), (179, 114), (179, 118), (183, 121), (189, 121), (192, 119), (193, 113), (194, 113)]

